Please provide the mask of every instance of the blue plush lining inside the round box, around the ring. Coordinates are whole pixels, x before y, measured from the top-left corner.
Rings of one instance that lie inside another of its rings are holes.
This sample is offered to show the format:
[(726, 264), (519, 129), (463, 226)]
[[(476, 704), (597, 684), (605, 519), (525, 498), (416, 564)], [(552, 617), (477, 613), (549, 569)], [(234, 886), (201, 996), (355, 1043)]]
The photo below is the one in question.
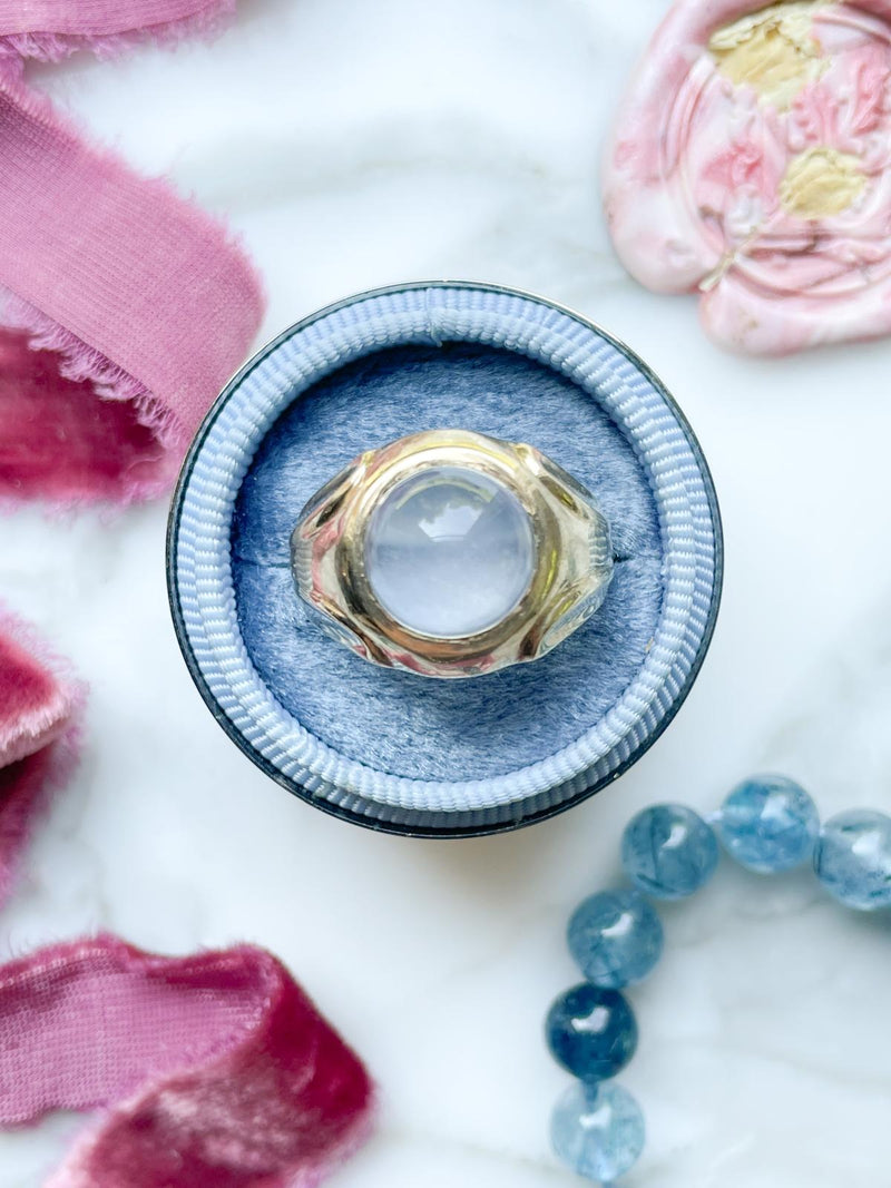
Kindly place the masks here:
[[(586, 484), (612, 525), (617, 565), (601, 609), (549, 656), (434, 681), (373, 668), (331, 642), (297, 598), (289, 538), (309, 497), (356, 454), (454, 426), (530, 442)], [(367, 355), (295, 400), (253, 460), (232, 529), (241, 633), (272, 694), (341, 754), (422, 779), (514, 771), (595, 725), (644, 661), (662, 561), (646, 475), (600, 405), (523, 355), (462, 343)]]

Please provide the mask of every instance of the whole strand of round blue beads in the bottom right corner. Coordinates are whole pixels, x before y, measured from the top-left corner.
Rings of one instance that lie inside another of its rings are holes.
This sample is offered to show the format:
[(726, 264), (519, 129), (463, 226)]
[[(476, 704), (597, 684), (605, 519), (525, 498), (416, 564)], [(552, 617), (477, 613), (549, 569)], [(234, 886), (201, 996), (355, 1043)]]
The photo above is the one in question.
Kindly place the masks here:
[(826, 890), (849, 908), (891, 905), (891, 817), (854, 809), (820, 827), (810, 796), (785, 776), (739, 784), (704, 821), (681, 804), (644, 809), (626, 827), (621, 865), (631, 887), (584, 899), (568, 928), (569, 950), (586, 981), (548, 1012), (554, 1059), (576, 1081), (551, 1117), (555, 1155), (579, 1175), (613, 1183), (644, 1149), (644, 1117), (611, 1080), (637, 1049), (634, 1012), (621, 993), (642, 981), (663, 949), (662, 923), (646, 896), (683, 899), (714, 874), (719, 839), (747, 870), (763, 874), (811, 861)]

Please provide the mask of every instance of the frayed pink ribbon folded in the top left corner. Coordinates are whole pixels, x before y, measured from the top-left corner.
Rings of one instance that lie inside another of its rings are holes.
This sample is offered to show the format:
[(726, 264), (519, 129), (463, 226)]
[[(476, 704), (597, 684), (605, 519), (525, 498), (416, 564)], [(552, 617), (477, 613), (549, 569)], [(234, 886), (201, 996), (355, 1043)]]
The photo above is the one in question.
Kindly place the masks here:
[(263, 310), (223, 228), (87, 144), (27, 84), (24, 57), (173, 40), (232, 7), (0, 0), (0, 498), (164, 489)]

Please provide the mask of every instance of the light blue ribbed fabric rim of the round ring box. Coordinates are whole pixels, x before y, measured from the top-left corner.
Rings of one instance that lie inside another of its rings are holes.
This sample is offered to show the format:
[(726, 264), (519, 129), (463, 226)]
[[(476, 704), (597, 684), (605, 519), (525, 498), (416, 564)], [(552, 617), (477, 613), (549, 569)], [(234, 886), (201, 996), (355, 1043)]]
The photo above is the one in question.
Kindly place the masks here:
[[(624, 694), (570, 745), (481, 779), (413, 779), (375, 770), (339, 753), (285, 710), (245, 646), (229, 548), (241, 484), (284, 407), (371, 352), (443, 342), (525, 355), (596, 400), (646, 475), (664, 557), (658, 626)], [(260, 352), (222, 393), (192, 446), (169, 536), (179, 643), (227, 733), (270, 776), (311, 803), (372, 828), (417, 835), (513, 828), (560, 811), (620, 775), (689, 691), (714, 627), (721, 573), (720, 518), (708, 469), (652, 373), (565, 309), (527, 293), (463, 283), (361, 295), (298, 323)]]

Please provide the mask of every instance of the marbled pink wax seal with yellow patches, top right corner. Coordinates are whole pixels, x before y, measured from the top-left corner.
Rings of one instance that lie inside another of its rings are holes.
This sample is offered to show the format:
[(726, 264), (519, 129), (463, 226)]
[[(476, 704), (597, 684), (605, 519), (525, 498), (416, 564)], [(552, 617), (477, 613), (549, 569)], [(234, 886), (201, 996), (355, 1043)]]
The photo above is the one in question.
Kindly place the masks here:
[(619, 108), (604, 198), (657, 292), (782, 355), (891, 331), (891, 2), (680, 0)]

